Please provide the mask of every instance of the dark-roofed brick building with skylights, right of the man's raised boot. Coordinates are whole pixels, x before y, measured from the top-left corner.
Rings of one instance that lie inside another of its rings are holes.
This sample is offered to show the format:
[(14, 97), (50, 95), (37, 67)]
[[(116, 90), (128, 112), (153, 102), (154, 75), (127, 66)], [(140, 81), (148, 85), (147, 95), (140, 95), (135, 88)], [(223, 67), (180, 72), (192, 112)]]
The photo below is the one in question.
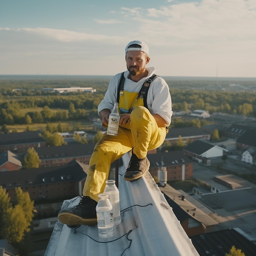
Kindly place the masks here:
[(158, 176), (161, 167), (166, 167), (167, 180), (187, 180), (193, 176), (193, 162), (182, 150), (157, 152), (148, 154), (149, 172), (153, 177)]

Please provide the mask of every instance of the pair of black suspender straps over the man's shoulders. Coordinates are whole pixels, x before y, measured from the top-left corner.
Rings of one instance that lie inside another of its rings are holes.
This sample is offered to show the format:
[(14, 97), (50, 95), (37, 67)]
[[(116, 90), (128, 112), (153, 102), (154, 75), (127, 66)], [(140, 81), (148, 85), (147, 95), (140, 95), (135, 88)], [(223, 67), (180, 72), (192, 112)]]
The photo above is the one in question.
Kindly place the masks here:
[[(148, 89), (150, 83), (157, 77), (156, 74), (153, 74), (153, 76), (150, 76), (146, 82), (141, 86), (141, 89), (139, 91), (139, 94), (137, 96), (137, 99), (143, 98), (144, 107), (148, 108), (147, 104), (147, 95), (148, 95)], [(121, 74), (121, 78), (119, 80), (118, 89), (117, 89), (117, 102), (119, 103), (120, 94), (124, 91), (124, 72)]]

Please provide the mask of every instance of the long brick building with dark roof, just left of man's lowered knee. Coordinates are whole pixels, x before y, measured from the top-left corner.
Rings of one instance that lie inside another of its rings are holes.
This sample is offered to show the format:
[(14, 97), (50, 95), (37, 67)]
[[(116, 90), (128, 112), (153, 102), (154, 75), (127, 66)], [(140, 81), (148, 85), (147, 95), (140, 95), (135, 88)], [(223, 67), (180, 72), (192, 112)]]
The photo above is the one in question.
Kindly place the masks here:
[(41, 160), (40, 167), (61, 166), (77, 160), (89, 164), (95, 143), (70, 144), (66, 146), (52, 146), (35, 148)]

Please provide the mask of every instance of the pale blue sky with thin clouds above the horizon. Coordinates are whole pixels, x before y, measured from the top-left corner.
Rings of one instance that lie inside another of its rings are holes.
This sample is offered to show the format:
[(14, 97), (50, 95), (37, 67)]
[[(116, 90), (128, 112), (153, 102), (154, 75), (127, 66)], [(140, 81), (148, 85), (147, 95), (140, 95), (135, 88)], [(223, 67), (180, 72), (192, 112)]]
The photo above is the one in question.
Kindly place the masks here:
[(115, 75), (142, 40), (160, 76), (256, 77), (256, 0), (0, 0), (0, 75)]

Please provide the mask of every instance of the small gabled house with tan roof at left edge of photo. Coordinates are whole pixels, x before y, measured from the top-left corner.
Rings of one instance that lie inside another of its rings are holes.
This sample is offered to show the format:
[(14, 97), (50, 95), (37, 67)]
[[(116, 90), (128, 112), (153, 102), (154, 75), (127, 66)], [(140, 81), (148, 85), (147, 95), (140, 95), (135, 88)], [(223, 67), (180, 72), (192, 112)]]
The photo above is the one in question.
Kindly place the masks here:
[(22, 168), (21, 158), (10, 150), (0, 154), (0, 172), (16, 171)]

